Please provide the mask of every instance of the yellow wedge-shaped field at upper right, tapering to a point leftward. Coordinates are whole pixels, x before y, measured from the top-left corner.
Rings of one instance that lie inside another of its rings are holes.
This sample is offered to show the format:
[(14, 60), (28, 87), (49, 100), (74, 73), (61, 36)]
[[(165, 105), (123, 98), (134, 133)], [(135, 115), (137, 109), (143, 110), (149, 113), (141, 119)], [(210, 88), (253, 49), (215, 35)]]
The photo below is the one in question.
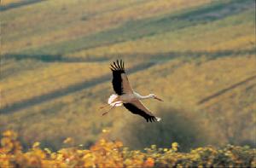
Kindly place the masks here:
[[(242, 22), (247, 14), (253, 14), (253, 10), (206, 25), (183, 28), (175, 32), (164, 32), (134, 41), (84, 49), (69, 56), (83, 57), (86, 55), (114, 55), (116, 53), (119, 55), (131, 53), (158, 54), (173, 51), (218, 52), (221, 50), (253, 49), (253, 21)], [(226, 26), (226, 22), (238, 17), (241, 24)]]

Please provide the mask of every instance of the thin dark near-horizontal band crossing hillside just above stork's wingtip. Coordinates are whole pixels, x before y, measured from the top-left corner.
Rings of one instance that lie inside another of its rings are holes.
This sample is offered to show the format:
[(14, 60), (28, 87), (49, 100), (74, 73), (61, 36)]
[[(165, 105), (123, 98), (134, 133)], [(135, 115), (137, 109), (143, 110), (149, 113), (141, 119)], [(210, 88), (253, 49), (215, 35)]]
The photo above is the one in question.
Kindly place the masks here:
[[(210, 59), (230, 56), (230, 55), (252, 55), (255, 54), (255, 49), (226, 49), (226, 50), (218, 50), (218, 51), (171, 51), (166, 53), (156, 53), (156, 54), (147, 54), (147, 53), (125, 53), (125, 54), (116, 54), (116, 55), (102, 55), (102, 56), (87, 56), (87, 57), (67, 57), (63, 55), (23, 55), (23, 54), (8, 54), (3, 55), (3, 60), (12, 60), (21, 61), (26, 59), (43, 61), (43, 62), (100, 62), (100, 61), (109, 61), (111, 58), (124, 58), (129, 59), (131, 56), (137, 58), (151, 58), (153, 60), (161, 60), (161, 59), (172, 59), (180, 56), (188, 57), (188, 58), (196, 58), (198, 56), (207, 56)], [(118, 56), (117, 56), (118, 55)]]

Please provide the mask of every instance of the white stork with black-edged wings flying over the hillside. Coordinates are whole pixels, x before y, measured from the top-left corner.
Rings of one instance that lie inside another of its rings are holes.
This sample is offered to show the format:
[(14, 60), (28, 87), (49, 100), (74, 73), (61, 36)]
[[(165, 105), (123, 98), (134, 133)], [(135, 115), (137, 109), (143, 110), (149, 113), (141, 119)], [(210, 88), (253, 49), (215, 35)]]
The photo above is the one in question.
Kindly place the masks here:
[[(141, 115), (144, 119), (150, 122), (160, 121), (160, 118), (155, 117), (147, 107), (143, 105), (143, 102), (140, 100), (154, 98), (158, 101), (162, 101), (160, 98), (154, 94), (149, 94), (148, 96), (141, 96), (137, 92), (133, 91), (129, 80), (125, 74), (125, 63), (124, 61), (116, 61), (110, 65), (110, 69), (113, 73), (113, 90), (116, 94), (113, 94), (108, 98), (108, 106), (111, 106), (107, 112), (102, 115), (107, 114), (113, 107), (119, 107), (124, 105), (131, 113)], [(104, 107), (101, 107), (104, 108)]]

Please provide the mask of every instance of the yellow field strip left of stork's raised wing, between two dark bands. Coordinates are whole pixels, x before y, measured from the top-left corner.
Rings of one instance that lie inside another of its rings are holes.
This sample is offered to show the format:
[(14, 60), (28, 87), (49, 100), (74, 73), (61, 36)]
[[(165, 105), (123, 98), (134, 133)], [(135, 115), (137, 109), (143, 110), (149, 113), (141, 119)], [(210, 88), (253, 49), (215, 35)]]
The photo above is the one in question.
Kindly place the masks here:
[[(140, 62), (136, 64), (138, 63)], [(136, 64), (129, 65), (127, 68)], [(20, 72), (18, 76), (3, 78), (0, 82), (1, 106), (11, 106), (15, 102), (65, 89), (73, 84), (89, 82), (95, 78), (100, 79), (109, 75), (108, 67), (109, 65), (104, 62), (55, 62), (49, 65), (46, 63), (33, 71)]]

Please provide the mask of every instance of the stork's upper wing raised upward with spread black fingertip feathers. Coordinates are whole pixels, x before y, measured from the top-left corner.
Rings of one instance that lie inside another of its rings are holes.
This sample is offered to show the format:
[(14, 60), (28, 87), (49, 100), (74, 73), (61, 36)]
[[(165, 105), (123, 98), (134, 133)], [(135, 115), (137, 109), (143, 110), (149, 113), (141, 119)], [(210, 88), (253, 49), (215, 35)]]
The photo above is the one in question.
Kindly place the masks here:
[(110, 69), (113, 72), (113, 90), (118, 95), (123, 95), (127, 93), (132, 93), (131, 85), (129, 84), (129, 80), (125, 74), (125, 63), (124, 61), (116, 61), (110, 65)]

